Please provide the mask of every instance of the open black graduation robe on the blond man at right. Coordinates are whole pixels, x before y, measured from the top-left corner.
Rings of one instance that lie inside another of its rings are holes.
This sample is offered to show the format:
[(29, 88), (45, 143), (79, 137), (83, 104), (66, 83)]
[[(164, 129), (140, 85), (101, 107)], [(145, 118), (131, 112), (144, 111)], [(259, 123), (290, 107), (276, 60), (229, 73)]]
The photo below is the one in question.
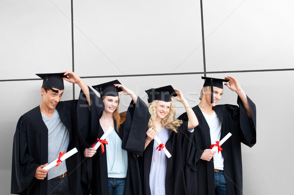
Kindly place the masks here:
[[(242, 155), (241, 143), (252, 147), (256, 143), (256, 107), (247, 97), (251, 109), (252, 119), (248, 118), (241, 99), (238, 97), (238, 106), (217, 105), (213, 107), (221, 121), (221, 139), (231, 132), (232, 136), (221, 145), (221, 154), (224, 159), (224, 176), (228, 195), (242, 195)], [(190, 162), (196, 162), (198, 195), (215, 195), (214, 164), (211, 161), (201, 160), (205, 149), (211, 146), (209, 126), (198, 106), (192, 108), (197, 116), (199, 125), (194, 129), (195, 154)], [(188, 120), (187, 113), (179, 116), (181, 120)], [(215, 143), (213, 143), (215, 144)]]

